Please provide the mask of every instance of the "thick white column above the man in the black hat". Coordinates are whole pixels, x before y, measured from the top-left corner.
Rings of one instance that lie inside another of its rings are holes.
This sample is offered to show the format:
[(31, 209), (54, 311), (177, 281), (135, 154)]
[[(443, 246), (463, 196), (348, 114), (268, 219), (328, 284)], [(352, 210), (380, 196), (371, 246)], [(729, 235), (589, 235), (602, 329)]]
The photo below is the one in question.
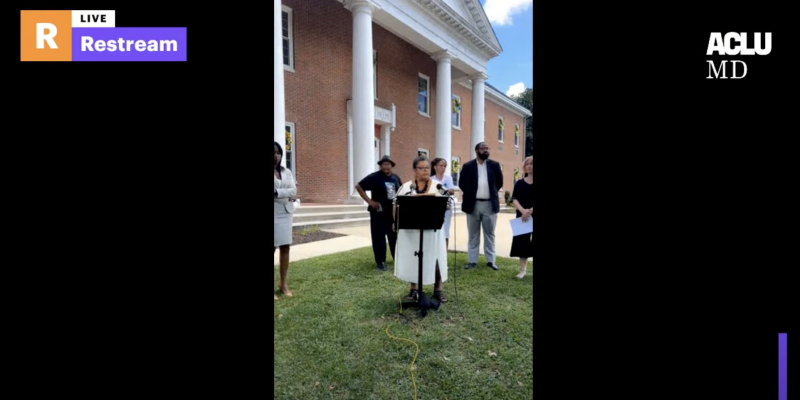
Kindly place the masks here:
[(353, 179), (372, 173), (375, 153), (375, 96), (372, 74), (372, 12), (378, 6), (370, 0), (348, 0), (353, 13)]

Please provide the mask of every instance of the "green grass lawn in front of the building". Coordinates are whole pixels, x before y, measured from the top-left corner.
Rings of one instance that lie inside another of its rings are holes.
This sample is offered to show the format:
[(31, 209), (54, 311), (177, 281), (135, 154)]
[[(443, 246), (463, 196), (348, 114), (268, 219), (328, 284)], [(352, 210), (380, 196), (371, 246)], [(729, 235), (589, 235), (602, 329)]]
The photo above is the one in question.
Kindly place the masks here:
[[(416, 310), (398, 319), (408, 286), (391, 265), (387, 272), (375, 268), (371, 248), (292, 263), (294, 297), (278, 294), (274, 302), (274, 398), (414, 400), (409, 369), (416, 347), (388, 337), (389, 326), (392, 336), (419, 345), (418, 399), (530, 399), (530, 270), (519, 281), (517, 260), (499, 259), (500, 271), (487, 268), (483, 256), (476, 269), (464, 270), (465, 263), (459, 254), (444, 286), (449, 302), (424, 319)], [(275, 266), (275, 287), (278, 278)]]

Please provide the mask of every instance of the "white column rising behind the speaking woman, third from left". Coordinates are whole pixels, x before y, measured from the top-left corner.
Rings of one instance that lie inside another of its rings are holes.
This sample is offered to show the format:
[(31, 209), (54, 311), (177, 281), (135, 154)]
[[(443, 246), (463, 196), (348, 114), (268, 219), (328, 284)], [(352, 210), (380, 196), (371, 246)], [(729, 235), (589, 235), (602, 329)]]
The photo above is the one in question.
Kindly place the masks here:
[[(433, 59), (436, 60), (436, 144), (433, 157), (444, 158), (447, 165), (450, 165), (453, 141), (453, 80), (451, 79), (453, 54), (444, 50), (435, 53)], [(445, 174), (450, 175), (450, 168), (445, 170)]]

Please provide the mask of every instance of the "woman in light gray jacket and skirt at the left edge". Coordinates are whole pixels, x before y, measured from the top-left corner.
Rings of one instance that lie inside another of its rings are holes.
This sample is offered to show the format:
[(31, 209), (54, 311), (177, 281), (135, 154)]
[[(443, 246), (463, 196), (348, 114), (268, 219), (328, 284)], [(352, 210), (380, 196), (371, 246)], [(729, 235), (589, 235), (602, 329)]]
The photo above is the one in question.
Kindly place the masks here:
[[(294, 203), (292, 203), (291, 199), (297, 193), (297, 188), (294, 184), (294, 175), (292, 171), (281, 166), (282, 158), (283, 149), (278, 142), (275, 142), (274, 167), (272, 169), (275, 178), (275, 201), (273, 202), (275, 245), (272, 253), (274, 255), (275, 251), (280, 247), (280, 289), (286, 297), (292, 297), (292, 292), (286, 285), (286, 275), (289, 271), (289, 246), (292, 245), (292, 214), (294, 213)], [(275, 300), (278, 300), (277, 294), (275, 294)]]

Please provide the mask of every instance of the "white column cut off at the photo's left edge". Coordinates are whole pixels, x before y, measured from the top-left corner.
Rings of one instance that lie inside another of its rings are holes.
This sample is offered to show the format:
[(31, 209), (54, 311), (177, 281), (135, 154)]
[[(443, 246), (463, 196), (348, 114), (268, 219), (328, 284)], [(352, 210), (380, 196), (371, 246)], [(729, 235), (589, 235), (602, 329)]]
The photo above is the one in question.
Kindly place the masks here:
[[(272, 60), (272, 81), (273, 81), (273, 108), (272, 108), (272, 134), (275, 141), (280, 143), (286, 151), (286, 104), (283, 93), (283, 28), (281, 21), (281, 0), (272, 0), (272, 36), (273, 36), (273, 60)], [(281, 165), (286, 166), (286, 158), (281, 160)]]

